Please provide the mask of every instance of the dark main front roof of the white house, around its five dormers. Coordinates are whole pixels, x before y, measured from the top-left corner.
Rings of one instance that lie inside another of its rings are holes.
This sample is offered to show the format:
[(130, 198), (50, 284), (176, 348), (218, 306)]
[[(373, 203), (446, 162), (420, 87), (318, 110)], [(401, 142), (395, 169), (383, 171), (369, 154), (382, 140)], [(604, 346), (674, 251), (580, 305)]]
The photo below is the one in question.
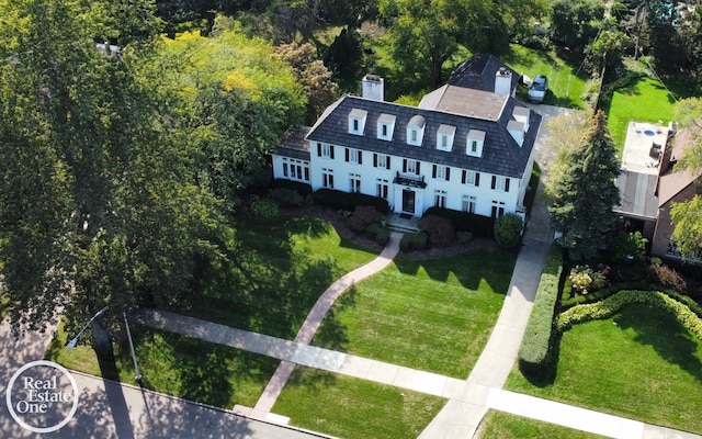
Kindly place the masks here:
[[(513, 98), (505, 99), (505, 106), (499, 119), (487, 121), (461, 114), (344, 95), (325, 111), (325, 114), (307, 135), (307, 139), (478, 172), (521, 178), (534, 147), (541, 116), (536, 112), (531, 112), (530, 131), (525, 133), (524, 143), (520, 147), (507, 132), (506, 126), (511, 120), (514, 105), (521, 104)], [(362, 136), (348, 134), (348, 115), (354, 109), (367, 112), (367, 123)], [(375, 133), (377, 119), (384, 113), (397, 116), (392, 142), (377, 138)], [(417, 115), (426, 120), (421, 146), (407, 144), (407, 125)], [(456, 127), (451, 151), (437, 149), (437, 132), (441, 125)], [(471, 130), (486, 133), (482, 157), (465, 154), (467, 135)]]

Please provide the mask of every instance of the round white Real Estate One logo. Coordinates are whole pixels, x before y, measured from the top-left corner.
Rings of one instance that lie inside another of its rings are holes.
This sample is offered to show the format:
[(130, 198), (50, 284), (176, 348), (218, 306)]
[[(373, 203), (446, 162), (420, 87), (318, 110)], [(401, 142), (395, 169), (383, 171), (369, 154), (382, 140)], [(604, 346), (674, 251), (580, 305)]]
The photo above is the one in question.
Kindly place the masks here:
[(10, 415), (23, 428), (52, 432), (68, 424), (78, 409), (78, 385), (60, 364), (32, 361), (20, 368), (7, 392)]

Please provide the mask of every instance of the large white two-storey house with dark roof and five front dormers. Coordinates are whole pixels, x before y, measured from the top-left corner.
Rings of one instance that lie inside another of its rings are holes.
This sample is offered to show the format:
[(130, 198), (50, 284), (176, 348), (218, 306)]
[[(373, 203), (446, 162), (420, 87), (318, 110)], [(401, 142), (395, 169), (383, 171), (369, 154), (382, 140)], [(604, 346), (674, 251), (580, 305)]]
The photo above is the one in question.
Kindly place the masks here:
[(288, 133), (273, 176), (380, 196), (414, 216), (432, 206), (523, 216), (541, 116), (513, 98), (516, 76), (479, 55), (418, 108), (383, 101), (383, 79), (366, 76), (363, 97), (344, 95), (312, 128)]

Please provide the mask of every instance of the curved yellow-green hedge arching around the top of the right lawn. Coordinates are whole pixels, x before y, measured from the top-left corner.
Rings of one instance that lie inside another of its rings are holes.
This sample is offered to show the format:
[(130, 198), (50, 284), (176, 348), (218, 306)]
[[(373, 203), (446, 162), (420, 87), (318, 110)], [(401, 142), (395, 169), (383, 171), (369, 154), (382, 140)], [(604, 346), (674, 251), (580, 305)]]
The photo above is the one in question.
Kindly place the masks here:
[(558, 316), (559, 331), (573, 325), (600, 318), (609, 318), (626, 305), (643, 303), (670, 312), (682, 326), (702, 340), (702, 319), (690, 307), (659, 291), (624, 290), (602, 302), (574, 306)]

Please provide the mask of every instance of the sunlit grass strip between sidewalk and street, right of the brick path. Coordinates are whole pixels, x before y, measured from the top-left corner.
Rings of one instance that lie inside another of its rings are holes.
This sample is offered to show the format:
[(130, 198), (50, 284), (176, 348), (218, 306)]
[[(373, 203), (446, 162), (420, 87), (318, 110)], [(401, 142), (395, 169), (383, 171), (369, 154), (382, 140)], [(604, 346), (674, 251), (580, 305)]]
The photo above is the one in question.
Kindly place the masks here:
[(416, 438), (445, 399), (297, 367), (273, 413), (291, 425), (347, 439)]

